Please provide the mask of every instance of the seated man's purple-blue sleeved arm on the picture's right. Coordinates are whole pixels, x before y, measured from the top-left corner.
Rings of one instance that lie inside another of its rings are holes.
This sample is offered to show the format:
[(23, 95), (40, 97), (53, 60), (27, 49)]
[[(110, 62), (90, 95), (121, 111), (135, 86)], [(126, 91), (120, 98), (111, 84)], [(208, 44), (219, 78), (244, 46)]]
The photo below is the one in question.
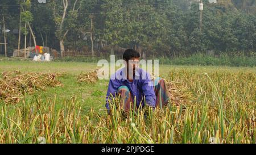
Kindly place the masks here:
[(156, 96), (154, 91), (154, 86), (150, 78), (150, 74), (147, 73), (147, 78), (143, 79), (142, 91), (146, 98), (146, 103), (150, 107), (155, 107)]

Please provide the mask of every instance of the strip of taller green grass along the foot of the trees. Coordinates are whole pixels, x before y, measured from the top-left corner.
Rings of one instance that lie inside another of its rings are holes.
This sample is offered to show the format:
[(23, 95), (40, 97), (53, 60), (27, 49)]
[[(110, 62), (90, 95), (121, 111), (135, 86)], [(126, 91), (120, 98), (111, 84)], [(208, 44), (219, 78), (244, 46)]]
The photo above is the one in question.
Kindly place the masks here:
[[(109, 56), (100, 57), (64, 57), (57, 58), (55, 62), (86, 62), (87, 64), (97, 63), (99, 60), (107, 59), (110, 61)], [(117, 57), (115, 57), (118, 60)], [(245, 54), (244, 52), (234, 52), (234, 53), (220, 53), (219, 55), (205, 55), (204, 53), (194, 53), (190, 56), (176, 56), (174, 58), (170, 57), (154, 57), (148, 59), (158, 59), (159, 63), (164, 65), (200, 65), (200, 66), (256, 66), (256, 53), (250, 52)], [(23, 58), (5, 58), (0, 56), (0, 61), (28, 61)]]

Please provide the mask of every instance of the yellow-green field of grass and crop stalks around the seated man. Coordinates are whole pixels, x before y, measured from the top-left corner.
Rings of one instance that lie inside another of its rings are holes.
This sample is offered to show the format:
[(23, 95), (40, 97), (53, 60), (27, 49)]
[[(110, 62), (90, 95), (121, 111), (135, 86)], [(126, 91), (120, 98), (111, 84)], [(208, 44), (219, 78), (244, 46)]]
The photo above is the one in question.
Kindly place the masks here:
[(63, 87), (36, 91), (18, 104), (0, 101), (0, 143), (39, 143), (40, 137), (46, 143), (256, 142), (255, 68), (160, 65), (160, 76), (176, 83), (187, 102), (125, 118), (115, 106), (106, 114), (108, 81), (77, 83), (96, 65), (0, 61), (0, 72), (67, 73), (58, 78)]

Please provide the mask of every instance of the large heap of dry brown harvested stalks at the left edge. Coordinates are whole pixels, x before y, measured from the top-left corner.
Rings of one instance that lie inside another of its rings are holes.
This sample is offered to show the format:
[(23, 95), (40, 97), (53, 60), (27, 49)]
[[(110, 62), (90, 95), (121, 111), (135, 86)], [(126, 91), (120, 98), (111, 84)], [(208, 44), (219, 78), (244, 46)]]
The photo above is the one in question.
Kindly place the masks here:
[(45, 90), (46, 87), (62, 86), (56, 77), (64, 73), (26, 73), (19, 70), (3, 72), (0, 78), (0, 100), (6, 103), (18, 103), (24, 94), (32, 94), (35, 90)]

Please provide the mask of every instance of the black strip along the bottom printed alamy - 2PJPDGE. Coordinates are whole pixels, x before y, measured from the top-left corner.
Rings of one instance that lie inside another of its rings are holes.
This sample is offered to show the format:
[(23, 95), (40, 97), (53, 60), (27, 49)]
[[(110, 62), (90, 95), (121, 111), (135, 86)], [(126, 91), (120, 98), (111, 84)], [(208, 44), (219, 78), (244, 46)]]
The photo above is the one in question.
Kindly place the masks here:
[[(1, 151), (48, 154), (176, 154), (254, 152), (255, 144), (0, 144)], [(175, 152), (175, 153), (174, 153)]]

